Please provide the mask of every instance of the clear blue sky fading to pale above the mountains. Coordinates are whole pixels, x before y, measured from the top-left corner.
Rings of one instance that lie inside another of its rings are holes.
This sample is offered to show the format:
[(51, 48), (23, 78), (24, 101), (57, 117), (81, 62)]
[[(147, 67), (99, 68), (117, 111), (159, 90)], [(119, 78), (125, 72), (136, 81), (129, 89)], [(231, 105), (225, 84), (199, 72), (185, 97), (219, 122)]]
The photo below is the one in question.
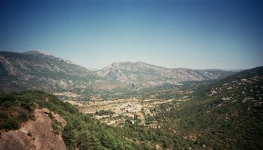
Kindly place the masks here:
[(84, 67), (263, 65), (261, 1), (0, 1), (0, 51), (46, 53)]

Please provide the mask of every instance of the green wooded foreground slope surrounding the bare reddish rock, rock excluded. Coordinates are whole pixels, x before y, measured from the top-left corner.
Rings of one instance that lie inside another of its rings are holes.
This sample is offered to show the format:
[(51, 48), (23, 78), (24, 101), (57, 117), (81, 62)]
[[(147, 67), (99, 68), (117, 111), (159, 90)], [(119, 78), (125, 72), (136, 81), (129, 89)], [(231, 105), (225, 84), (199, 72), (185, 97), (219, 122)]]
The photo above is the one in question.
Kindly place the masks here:
[(53, 130), (62, 131), (62, 139), (67, 149), (155, 149), (156, 144), (163, 146), (163, 143), (164, 146), (177, 148), (184, 146), (180, 136), (164, 130), (146, 129), (137, 125), (116, 128), (100, 123), (79, 112), (72, 104), (41, 91), (1, 95), (0, 102), (1, 132), (18, 129), (21, 123), (29, 119), (34, 120), (32, 114), (37, 108), (48, 108), (65, 118), (65, 128), (61, 128), (60, 123), (54, 123)]

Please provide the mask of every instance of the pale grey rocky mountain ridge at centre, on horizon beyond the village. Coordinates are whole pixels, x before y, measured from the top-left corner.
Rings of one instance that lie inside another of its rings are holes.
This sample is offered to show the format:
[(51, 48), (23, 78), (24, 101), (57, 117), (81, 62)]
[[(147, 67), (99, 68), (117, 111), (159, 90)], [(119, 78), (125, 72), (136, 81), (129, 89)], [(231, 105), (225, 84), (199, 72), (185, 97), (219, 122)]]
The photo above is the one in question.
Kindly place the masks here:
[(144, 62), (114, 62), (99, 71), (98, 75), (139, 87), (160, 86), (164, 83), (177, 84), (182, 81), (203, 81), (218, 79), (234, 74), (234, 71), (168, 69)]

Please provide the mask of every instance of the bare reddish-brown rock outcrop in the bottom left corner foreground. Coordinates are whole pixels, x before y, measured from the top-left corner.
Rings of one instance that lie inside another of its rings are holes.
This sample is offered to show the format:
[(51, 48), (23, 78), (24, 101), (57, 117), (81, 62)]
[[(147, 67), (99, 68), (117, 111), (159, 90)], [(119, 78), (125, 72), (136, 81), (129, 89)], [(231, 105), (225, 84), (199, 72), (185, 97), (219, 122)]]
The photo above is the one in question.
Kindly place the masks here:
[[(2, 131), (0, 149), (67, 149), (61, 132), (56, 135), (52, 128), (53, 120), (48, 116), (48, 109), (35, 109), (36, 121), (23, 123), (19, 130)], [(64, 118), (51, 112), (55, 120), (66, 125)]]

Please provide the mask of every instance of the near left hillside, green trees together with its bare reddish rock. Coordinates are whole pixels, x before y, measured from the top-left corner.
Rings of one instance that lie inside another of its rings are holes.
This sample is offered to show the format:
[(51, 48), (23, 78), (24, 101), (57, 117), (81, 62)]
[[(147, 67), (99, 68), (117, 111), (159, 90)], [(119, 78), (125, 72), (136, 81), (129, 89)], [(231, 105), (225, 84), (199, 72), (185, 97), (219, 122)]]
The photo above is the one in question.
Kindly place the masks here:
[(0, 94), (0, 108), (0, 149), (153, 149), (41, 91)]

